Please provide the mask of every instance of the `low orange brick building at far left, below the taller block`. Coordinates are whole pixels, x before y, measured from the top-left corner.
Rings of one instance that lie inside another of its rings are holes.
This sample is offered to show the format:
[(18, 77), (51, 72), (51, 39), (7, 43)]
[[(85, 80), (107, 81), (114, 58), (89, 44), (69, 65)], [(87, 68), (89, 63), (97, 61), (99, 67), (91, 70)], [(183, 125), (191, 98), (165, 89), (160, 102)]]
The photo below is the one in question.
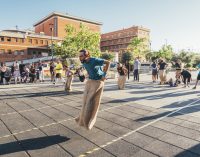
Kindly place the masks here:
[[(61, 41), (52, 37), (52, 41)], [(51, 36), (32, 31), (4, 30), (0, 32), (0, 62), (30, 59), (50, 54)]]

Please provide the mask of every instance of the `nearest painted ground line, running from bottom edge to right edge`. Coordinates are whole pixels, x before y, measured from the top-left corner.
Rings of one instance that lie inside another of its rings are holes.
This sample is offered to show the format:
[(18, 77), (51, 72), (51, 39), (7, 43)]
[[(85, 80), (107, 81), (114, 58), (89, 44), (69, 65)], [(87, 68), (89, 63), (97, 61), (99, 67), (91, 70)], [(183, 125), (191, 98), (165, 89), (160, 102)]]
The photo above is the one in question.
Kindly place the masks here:
[(165, 115), (165, 116), (163, 116), (163, 117), (160, 117), (160, 118), (158, 118), (158, 119), (156, 119), (156, 120), (154, 120), (154, 121), (152, 121), (152, 122), (149, 122), (149, 123), (147, 123), (147, 124), (145, 124), (145, 125), (143, 125), (143, 126), (137, 128), (137, 129), (135, 129), (135, 130), (132, 130), (132, 131), (130, 131), (130, 132), (128, 132), (128, 133), (126, 133), (126, 134), (124, 134), (124, 135), (122, 135), (122, 136), (116, 138), (116, 139), (113, 139), (112, 141), (107, 142), (106, 144), (103, 144), (103, 145), (101, 145), (101, 146), (99, 146), (99, 147), (95, 147), (95, 148), (92, 149), (92, 150), (89, 150), (89, 151), (87, 151), (87, 152), (85, 152), (85, 153), (83, 153), (83, 154), (80, 154), (79, 157), (85, 157), (85, 156), (87, 156), (87, 155), (89, 155), (89, 154), (92, 154), (92, 153), (94, 153), (94, 152), (96, 152), (96, 151), (102, 149), (102, 148), (105, 148), (106, 146), (109, 146), (109, 145), (111, 145), (111, 144), (113, 144), (113, 143), (115, 143), (115, 142), (117, 142), (117, 141), (123, 139), (124, 137), (127, 137), (127, 136), (129, 136), (129, 135), (131, 135), (131, 134), (133, 134), (133, 133), (135, 133), (135, 132), (141, 130), (141, 129), (144, 129), (144, 128), (150, 126), (151, 124), (154, 124), (154, 123), (156, 123), (156, 122), (158, 122), (158, 121), (160, 121), (160, 120), (162, 120), (162, 119), (164, 119), (164, 118), (166, 118), (166, 117), (168, 117), (168, 116), (170, 116), (170, 115), (173, 115), (174, 113), (177, 113), (177, 112), (179, 112), (180, 110), (182, 110), (182, 109), (184, 109), (184, 108), (187, 108), (187, 107), (189, 107), (190, 105), (192, 105), (192, 104), (194, 104), (194, 103), (196, 103), (196, 102), (198, 102), (198, 101), (200, 101), (200, 99), (198, 99), (198, 100), (196, 100), (196, 101), (193, 101), (193, 102), (189, 103), (188, 105), (186, 105), (186, 106), (184, 106), (184, 107), (180, 107), (180, 108), (176, 109), (175, 111), (172, 111), (171, 113), (169, 113), (169, 114), (167, 114), (167, 115)]

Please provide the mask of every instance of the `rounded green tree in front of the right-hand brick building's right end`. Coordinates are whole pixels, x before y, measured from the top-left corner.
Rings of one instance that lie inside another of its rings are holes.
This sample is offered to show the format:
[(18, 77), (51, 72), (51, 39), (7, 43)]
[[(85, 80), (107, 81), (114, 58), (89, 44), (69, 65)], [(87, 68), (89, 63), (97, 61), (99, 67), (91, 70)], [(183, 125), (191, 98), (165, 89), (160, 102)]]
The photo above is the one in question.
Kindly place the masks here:
[(134, 37), (128, 45), (128, 50), (133, 52), (135, 57), (145, 57), (145, 54), (149, 52), (146, 40), (145, 38)]

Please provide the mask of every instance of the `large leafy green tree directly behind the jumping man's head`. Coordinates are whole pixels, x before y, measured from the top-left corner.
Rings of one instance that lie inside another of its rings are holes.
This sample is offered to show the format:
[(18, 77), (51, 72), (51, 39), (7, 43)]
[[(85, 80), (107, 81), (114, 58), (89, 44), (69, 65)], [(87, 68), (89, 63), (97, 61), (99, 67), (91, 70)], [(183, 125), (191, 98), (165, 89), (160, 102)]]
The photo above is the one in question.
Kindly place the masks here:
[(61, 45), (55, 45), (55, 52), (62, 58), (72, 58), (78, 55), (81, 49), (87, 49), (91, 56), (100, 56), (100, 34), (89, 30), (88, 27), (80, 23), (77, 30), (72, 25), (66, 25), (66, 37)]

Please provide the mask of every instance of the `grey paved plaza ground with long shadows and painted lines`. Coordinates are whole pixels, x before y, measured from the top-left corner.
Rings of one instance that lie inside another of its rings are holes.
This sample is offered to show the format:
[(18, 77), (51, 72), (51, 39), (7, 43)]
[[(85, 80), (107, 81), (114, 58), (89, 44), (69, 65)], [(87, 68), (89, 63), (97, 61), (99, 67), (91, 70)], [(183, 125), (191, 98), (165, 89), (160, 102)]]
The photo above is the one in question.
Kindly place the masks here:
[(74, 82), (73, 89), (66, 94), (62, 84), (46, 82), (0, 86), (0, 156), (200, 156), (200, 87), (160, 86), (143, 74), (118, 90), (109, 79), (91, 131), (74, 121), (84, 84)]

